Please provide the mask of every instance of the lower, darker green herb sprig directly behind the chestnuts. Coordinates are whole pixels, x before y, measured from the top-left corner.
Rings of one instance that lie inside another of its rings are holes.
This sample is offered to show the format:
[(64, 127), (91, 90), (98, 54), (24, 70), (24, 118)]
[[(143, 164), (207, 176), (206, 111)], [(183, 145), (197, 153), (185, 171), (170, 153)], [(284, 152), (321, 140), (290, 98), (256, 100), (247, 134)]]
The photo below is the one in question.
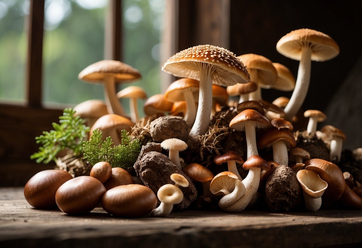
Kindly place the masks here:
[(138, 138), (131, 140), (126, 130), (122, 130), (122, 143), (112, 146), (112, 138), (108, 137), (102, 142), (102, 131), (96, 129), (89, 141), (83, 142), (83, 156), (90, 164), (108, 162), (112, 167), (124, 169), (133, 167), (141, 150), (141, 142)]

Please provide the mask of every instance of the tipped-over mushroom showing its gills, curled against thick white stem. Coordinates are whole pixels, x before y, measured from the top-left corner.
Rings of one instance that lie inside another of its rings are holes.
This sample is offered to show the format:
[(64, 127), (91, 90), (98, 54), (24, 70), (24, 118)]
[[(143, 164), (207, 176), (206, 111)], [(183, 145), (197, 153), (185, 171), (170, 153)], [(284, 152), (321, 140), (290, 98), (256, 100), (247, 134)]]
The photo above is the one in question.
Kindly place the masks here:
[[(224, 171), (212, 179), (210, 191), (216, 196), (223, 196), (219, 200), (219, 207), (225, 210), (244, 195), (245, 186), (235, 174)], [(232, 192), (230, 193), (230, 191)]]

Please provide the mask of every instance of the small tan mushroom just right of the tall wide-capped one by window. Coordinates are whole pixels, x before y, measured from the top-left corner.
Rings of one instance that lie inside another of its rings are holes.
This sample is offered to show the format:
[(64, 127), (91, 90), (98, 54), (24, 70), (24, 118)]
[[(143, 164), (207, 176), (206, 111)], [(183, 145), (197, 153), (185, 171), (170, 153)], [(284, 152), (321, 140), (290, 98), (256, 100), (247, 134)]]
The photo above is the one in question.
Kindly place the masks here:
[(137, 107), (137, 99), (146, 99), (147, 94), (144, 89), (138, 86), (128, 86), (125, 89), (118, 91), (117, 97), (121, 98), (129, 98), (130, 99), (130, 115), (131, 120), (136, 122), (139, 118), (138, 115), (138, 107)]

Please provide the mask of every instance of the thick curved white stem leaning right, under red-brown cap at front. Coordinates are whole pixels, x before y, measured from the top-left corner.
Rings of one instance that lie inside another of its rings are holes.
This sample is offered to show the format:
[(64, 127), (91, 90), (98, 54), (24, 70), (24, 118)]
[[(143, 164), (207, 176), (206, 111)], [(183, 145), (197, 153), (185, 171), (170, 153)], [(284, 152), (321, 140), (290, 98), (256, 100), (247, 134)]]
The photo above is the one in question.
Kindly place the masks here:
[(223, 208), (227, 212), (240, 212), (244, 210), (257, 192), (260, 181), (261, 168), (250, 168), (247, 177), (242, 181), (245, 186), (245, 193), (234, 204)]

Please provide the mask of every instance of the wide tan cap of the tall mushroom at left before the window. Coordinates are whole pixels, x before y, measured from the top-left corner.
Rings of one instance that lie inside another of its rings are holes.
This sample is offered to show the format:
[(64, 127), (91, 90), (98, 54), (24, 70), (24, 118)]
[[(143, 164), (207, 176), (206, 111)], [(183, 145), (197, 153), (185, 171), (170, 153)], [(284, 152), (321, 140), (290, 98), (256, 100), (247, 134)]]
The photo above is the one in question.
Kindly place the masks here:
[(106, 75), (113, 75), (116, 82), (133, 81), (141, 77), (139, 70), (117, 60), (101, 60), (88, 65), (78, 78), (87, 82), (102, 82)]

